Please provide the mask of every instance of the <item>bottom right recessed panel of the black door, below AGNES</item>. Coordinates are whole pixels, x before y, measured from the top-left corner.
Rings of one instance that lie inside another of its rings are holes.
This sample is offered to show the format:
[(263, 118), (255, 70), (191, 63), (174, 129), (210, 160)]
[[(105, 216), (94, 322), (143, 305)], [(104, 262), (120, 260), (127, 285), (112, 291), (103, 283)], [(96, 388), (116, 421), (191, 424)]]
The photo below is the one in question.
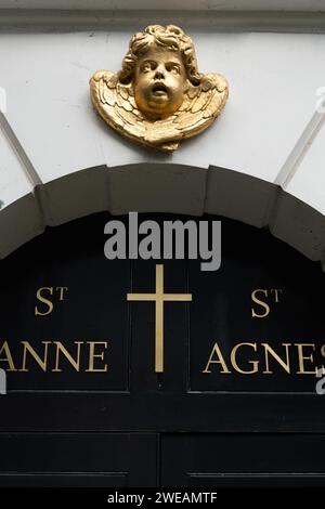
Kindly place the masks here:
[(164, 434), (161, 486), (325, 485), (325, 435)]

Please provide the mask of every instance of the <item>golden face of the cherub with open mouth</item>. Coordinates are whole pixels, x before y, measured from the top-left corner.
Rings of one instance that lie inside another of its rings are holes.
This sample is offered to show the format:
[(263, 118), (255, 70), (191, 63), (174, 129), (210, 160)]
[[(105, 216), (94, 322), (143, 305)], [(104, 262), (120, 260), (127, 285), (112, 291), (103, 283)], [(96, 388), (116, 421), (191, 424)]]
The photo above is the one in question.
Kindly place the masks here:
[(139, 57), (134, 75), (135, 102), (145, 115), (158, 119), (179, 109), (186, 89), (180, 53), (156, 44)]

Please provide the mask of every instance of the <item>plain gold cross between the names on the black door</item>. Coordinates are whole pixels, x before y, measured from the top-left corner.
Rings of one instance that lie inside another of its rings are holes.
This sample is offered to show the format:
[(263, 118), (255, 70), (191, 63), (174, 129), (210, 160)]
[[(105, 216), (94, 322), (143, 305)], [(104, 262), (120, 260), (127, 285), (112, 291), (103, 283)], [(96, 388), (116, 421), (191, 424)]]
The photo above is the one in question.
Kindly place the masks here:
[(164, 302), (192, 301), (192, 293), (164, 293), (164, 265), (156, 265), (156, 293), (128, 293), (128, 300), (156, 302), (156, 373), (164, 373)]

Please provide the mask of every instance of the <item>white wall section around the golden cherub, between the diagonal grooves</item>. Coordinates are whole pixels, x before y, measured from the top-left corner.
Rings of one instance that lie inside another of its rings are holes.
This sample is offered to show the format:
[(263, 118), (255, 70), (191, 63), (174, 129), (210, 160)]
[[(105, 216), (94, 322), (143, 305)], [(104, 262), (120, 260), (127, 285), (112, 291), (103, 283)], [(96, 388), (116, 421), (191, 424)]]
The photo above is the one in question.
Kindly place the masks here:
[[(325, 36), (192, 35), (200, 70), (224, 74), (230, 100), (209, 130), (168, 160), (273, 182), (313, 114), (325, 76)], [(0, 35), (8, 118), (44, 183), (82, 168), (160, 160), (106, 128), (89, 101), (89, 78), (100, 68), (119, 69), (129, 36)]]

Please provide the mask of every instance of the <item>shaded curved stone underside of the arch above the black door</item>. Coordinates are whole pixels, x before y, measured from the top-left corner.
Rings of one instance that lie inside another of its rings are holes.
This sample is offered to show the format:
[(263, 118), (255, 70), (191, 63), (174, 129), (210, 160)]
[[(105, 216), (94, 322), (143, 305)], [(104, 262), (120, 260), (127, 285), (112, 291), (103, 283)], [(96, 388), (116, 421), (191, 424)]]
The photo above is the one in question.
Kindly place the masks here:
[(324, 266), (325, 217), (308, 204), (276, 184), (234, 170), (168, 162), (86, 168), (37, 184), (0, 211), (0, 257), (47, 226), (100, 211), (222, 216), (269, 229)]

